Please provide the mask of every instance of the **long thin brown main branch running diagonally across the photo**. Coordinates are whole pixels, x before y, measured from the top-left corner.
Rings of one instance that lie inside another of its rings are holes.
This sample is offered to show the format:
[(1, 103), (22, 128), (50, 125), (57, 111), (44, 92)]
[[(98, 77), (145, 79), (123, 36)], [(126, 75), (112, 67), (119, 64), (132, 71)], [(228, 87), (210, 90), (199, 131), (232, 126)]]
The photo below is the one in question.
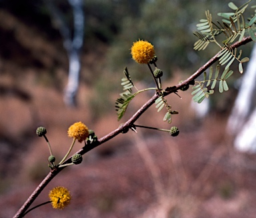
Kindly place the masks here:
[[(240, 47), (241, 45), (245, 45), (245, 44), (247, 44), (247, 43), (249, 43), (251, 41), (252, 41), (251, 37), (245, 37), (245, 38), (243, 38), (242, 41), (234, 43), (233, 45), (231, 45), (231, 48), (235, 49), (235, 48)], [(183, 83), (180, 83), (180, 84), (178, 84), (176, 86), (173, 86), (173, 87), (171, 87), (169, 89), (168, 88), (165, 89), (164, 95), (169, 95), (171, 93), (176, 93), (179, 89), (181, 89), (181, 87), (183, 87), (183, 86), (193, 82), (193, 80), (195, 80), (197, 77), (199, 77), (199, 75), (201, 75), (205, 70), (207, 70), (211, 65), (213, 65), (213, 63), (215, 63), (219, 59), (217, 57), (218, 55), (219, 55), (219, 53), (217, 53), (215, 56), (213, 56), (209, 61), (207, 61), (207, 63), (205, 63), (205, 65), (203, 65), (195, 73), (193, 73), (193, 75), (191, 75), (191, 77), (189, 77), (185, 81), (183, 81)], [(91, 144), (86, 145), (85, 147), (83, 147), (83, 149), (80, 149), (79, 151), (77, 151), (77, 153), (80, 153), (81, 155), (83, 155), (83, 154), (87, 153), (88, 151), (91, 151), (91, 149), (94, 149), (95, 147), (97, 147), (97, 146), (105, 143), (106, 141), (109, 141), (113, 137), (119, 135), (123, 131), (131, 128), (133, 126), (133, 123), (135, 123), (135, 121), (137, 121), (137, 119), (139, 119), (139, 117), (141, 117), (141, 115), (147, 109), (149, 109), (149, 107), (151, 105), (153, 105), (153, 103), (155, 103), (155, 100), (159, 96), (160, 96), (159, 93), (155, 93), (155, 95), (153, 95), (153, 97), (151, 97), (151, 99), (149, 99), (126, 123), (121, 125), (121, 127), (115, 129), (114, 131), (112, 131), (111, 133), (105, 135), (104, 137), (101, 137), (101, 139), (99, 139), (97, 141), (97, 143), (91, 143)], [(71, 163), (71, 157), (69, 157), (69, 159), (67, 159), (67, 161), (65, 161), (63, 164), (66, 164), (66, 163)], [(57, 169), (54, 169), (53, 171), (51, 171), (45, 177), (45, 179), (43, 179), (43, 181), (35, 189), (35, 191), (33, 191), (31, 196), (23, 204), (21, 209), (19, 209), (19, 211), (17, 211), (17, 213), (14, 216), (14, 218), (22, 217), (23, 213), (25, 213), (25, 211), (30, 207), (30, 205), (33, 203), (33, 201), (35, 201), (37, 196), (41, 193), (41, 191), (43, 191), (43, 189), (51, 181), (51, 179), (53, 179), (64, 168), (65, 167), (61, 167), (61, 168), (57, 168)]]

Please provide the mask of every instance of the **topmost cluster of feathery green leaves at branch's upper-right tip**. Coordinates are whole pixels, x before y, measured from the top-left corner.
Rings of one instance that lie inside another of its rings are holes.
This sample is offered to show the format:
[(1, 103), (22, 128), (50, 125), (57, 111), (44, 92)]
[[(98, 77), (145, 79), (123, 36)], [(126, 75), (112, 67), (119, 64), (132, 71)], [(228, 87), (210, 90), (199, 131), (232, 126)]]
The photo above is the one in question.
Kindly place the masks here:
[[(251, 1), (251, 0), (250, 0)], [(242, 55), (242, 50), (239, 51), (237, 55), (237, 49), (231, 48), (231, 43), (235, 41), (241, 41), (245, 37), (245, 33), (248, 32), (253, 41), (256, 41), (255, 37), (255, 21), (256, 15), (249, 19), (249, 23), (245, 22), (245, 17), (243, 13), (247, 9), (249, 2), (245, 3), (241, 7), (237, 7), (234, 3), (229, 3), (229, 8), (233, 12), (228, 13), (218, 13), (220, 17), (223, 17), (222, 23), (217, 21), (214, 23), (212, 21), (212, 16), (209, 11), (205, 12), (206, 19), (201, 19), (200, 23), (197, 24), (197, 30), (194, 35), (199, 38), (194, 44), (195, 50), (204, 50), (207, 48), (209, 43), (215, 43), (221, 49), (219, 53), (219, 64), (226, 65), (225, 69), (237, 60), (239, 62), (239, 72), (243, 73), (243, 63), (249, 61), (248, 57), (240, 60)], [(225, 39), (219, 43), (217, 41), (218, 35), (224, 35)], [(221, 46), (222, 44), (222, 46)]]

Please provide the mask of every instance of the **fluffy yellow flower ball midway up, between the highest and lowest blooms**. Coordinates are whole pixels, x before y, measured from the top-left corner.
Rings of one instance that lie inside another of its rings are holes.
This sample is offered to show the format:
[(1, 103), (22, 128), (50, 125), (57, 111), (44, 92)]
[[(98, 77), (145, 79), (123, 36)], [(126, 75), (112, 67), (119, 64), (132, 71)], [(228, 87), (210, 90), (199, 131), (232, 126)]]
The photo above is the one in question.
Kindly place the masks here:
[(82, 122), (77, 122), (69, 127), (67, 135), (71, 138), (77, 139), (81, 143), (89, 136), (89, 129)]

